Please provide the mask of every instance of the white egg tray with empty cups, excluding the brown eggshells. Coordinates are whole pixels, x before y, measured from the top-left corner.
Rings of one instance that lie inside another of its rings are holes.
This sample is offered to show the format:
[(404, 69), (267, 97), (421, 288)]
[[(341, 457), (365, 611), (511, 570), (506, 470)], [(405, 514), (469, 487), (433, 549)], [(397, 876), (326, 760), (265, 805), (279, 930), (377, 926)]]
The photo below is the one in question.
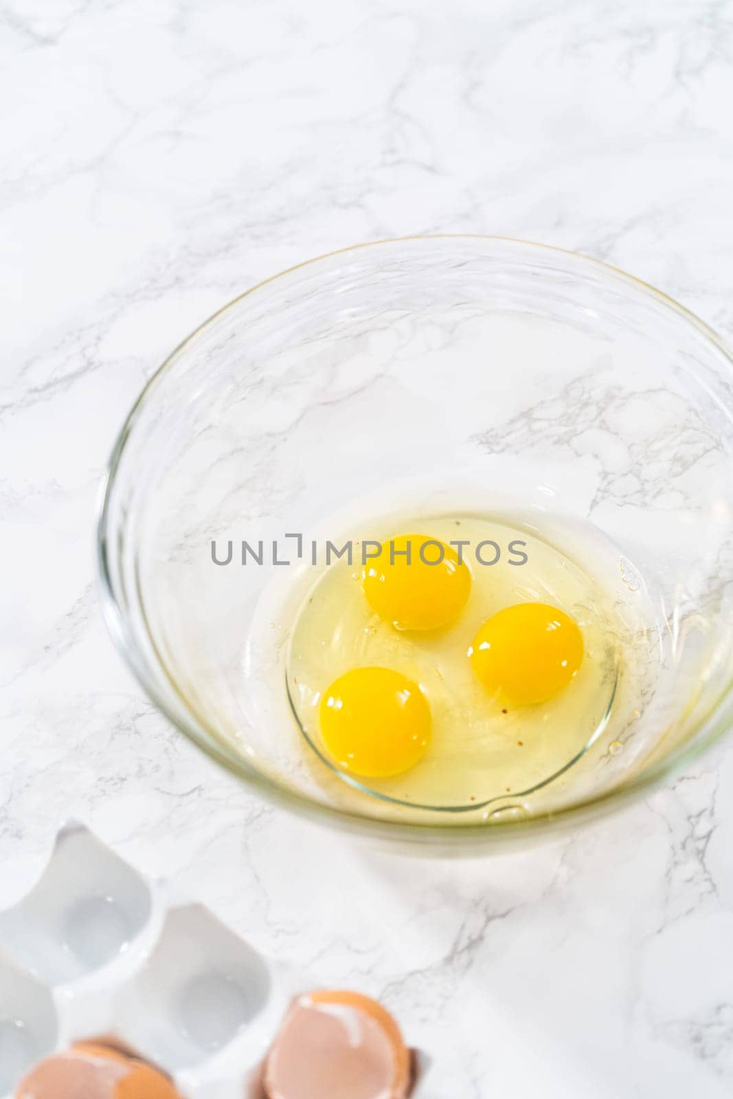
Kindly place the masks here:
[[(263, 1058), (307, 987), (69, 823), (35, 886), (0, 912), (0, 1099), (90, 1037), (133, 1050), (188, 1099), (263, 1099)], [(411, 1099), (427, 1099), (414, 1061)]]

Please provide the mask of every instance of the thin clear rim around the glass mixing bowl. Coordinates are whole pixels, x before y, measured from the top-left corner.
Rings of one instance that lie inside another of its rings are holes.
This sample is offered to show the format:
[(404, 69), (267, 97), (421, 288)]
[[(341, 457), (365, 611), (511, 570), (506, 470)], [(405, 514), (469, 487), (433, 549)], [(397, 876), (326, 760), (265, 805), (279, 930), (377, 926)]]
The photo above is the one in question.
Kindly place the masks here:
[[(717, 351), (722, 353), (724, 358), (728, 359), (731, 366), (731, 373), (733, 374), (733, 352), (728, 347), (722, 337), (719, 336), (718, 333), (706, 324), (706, 322), (699, 317), (686, 309), (685, 306), (675, 301), (674, 298), (670, 298), (662, 290), (651, 286), (648, 282), (644, 282), (642, 279), (638, 279), (633, 275), (629, 275), (619, 267), (614, 267), (611, 264), (596, 259), (592, 256), (587, 256), (580, 252), (574, 252), (568, 248), (559, 248), (555, 245), (542, 244), (536, 241), (526, 241), (519, 237), (482, 233), (414, 234), (410, 236), (387, 237), (379, 241), (369, 241), (362, 244), (349, 245), (344, 248), (337, 248), (334, 252), (324, 253), (323, 255), (295, 264), (292, 267), (288, 267), (276, 275), (263, 279), (260, 282), (252, 286), (243, 293), (237, 295), (237, 297), (232, 299), (221, 309), (216, 310), (215, 313), (198, 325), (193, 332), (191, 332), (181, 343), (178, 344), (177, 347), (174, 348), (157, 370), (155, 370), (151, 378), (148, 378), (127, 413), (122, 428), (120, 429), (112, 447), (112, 453), (107, 468), (102, 476), (97, 521), (97, 562), (104, 620), (112, 639), (126, 664), (132, 669), (151, 701), (168, 719), (168, 721), (170, 721), (175, 728), (179, 729), (190, 741), (192, 741), (197, 747), (203, 751), (216, 763), (225, 767), (230, 774), (244, 781), (270, 803), (279, 804), (288, 810), (299, 813), (301, 817), (310, 818), (315, 822), (330, 826), (336, 826), (345, 831), (362, 834), (366, 833), (388, 840), (399, 840), (408, 843), (422, 842), (423, 844), (429, 844), (431, 848), (436, 848), (441, 845), (448, 848), (452, 854), (456, 854), (458, 852), (478, 853), (477, 848), (489, 848), (491, 846), (497, 846), (498, 844), (503, 847), (508, 844), (515, 844), (518, 842), (522, 843), (529, 840), (530, 836), (534, 836), (534, 839), (537, 840), (540, 837), (538, 833), (548, 836), (558, 831), (567, 831), (569, 828), (578, 826), (589, 820), (615, 811), (622, 806), (628, 804), (630, 801), (637, 800), (645, 792), (649, 792), (663, 784), (666, 779), (679, 774), (686, 766), (702, 755), (713, 743), (720, 740), (724, 733), (728, 732), (728, 720), (725, 718), (718, 717), (718, 719), (711, 723), (706, 733), (697, 739), (688, 748), (678, 752), (670, 759), (659, 761), (658, 764), (649, 768), (647, 771), (642, 771), (638, 776), (631, 778), (622, 786), (606, 791), (598, 797), (592, 797), (570, 804), (567, 808), (549, 814), (527, 817), (519, 821), (514, 820), (499, 824), (475, 823), (448, 825), (432, 822), (403, 823), (393, 820), (367, 817), (357, 812), (351, 812), (348, 810), (311, 800), (303, 795), (297, 793), (295, 790), (279, 785), (276, 780), (248, 766), (244, 759), (235, 761), (233, 755), (230, 756), (227, 753), (219, 748), (215, 742), (212, 742), (212, 740), (209, 739), (209, 734), (186, 706), (186, 700), (178, 691), (176, 684), (169, 679), (164, 668), (160, 666), (151, 666), (145, 654), (137, 645), (133, 631), (130, 626), (127, 611), (121, 604), (115, 592), (109, 550), (109, 525), (112, 509), (112, 496), (114, 491), (115, 478), (125, 452), (127, 440), (134, 431), (135, 422), (138, 419), (143, 407), (152, 398), (164, 375), (186, 351), (190, 343), (203, 333), (204, 330), (209, 330), (214, 326), (224, 314), (236, 308), (236, 306), (245, 298), (248, 298), (271, 284), (277, 282), (280, 279), (285, 279), (288, 276), (306, 268), (310, 268), (324, 260), (334, 259), (338, 256), (348, 256), (355, 252), (366, 248), (379, 248), (384, 246), (434, 241), (481, 241), (487, 244), (493, 243), (497, 245), (509, 245), (521, 252), (526, 252), (526, 254), (534, 251), (551, 255), (554, 254), (566, 264), (576, 264), (580, 268), (588, 265), (601, 275), (612, 276), (614, 279), (628, 284), (631, 289), (652, 298), (657, 304), (663, 306), (666, 310), (675, 313), (682, 321), (696, 328), (698, 332), (708, 342), (713, 344)], [(176, 713), (174, 708), (169, 704), (162, 684), (165, 684), (169, 690), (171, 689), (175, 692), (180, 704), (181, 713)], [(724, 702), (731, 697), (732, 692), (733, 684), (730, 684), (724, 696), (718, 700), (718, 710), (723, 709)]]

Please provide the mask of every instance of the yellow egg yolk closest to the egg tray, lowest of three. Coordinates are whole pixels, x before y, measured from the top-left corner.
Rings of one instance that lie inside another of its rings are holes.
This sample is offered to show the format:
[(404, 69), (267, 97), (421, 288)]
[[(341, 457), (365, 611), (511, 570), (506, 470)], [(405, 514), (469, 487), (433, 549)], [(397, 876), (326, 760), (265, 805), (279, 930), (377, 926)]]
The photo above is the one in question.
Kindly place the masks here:
[(389, 778), (422, 758), (432, 719), (420, 686), (391, 668), (353, 668), (335, 679), (319, 710), (323, 741), (344, 770)]

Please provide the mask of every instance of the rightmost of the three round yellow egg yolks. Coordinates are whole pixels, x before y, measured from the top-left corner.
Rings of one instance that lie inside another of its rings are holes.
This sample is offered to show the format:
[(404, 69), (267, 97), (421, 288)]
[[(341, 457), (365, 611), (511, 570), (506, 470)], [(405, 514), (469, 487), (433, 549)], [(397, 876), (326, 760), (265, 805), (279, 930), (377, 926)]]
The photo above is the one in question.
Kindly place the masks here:
[(476, 676), (513, 702), (546, 702), (582, 663), (580, 629), (548, 603), (517, 603), (484, 623), (468, 650)]

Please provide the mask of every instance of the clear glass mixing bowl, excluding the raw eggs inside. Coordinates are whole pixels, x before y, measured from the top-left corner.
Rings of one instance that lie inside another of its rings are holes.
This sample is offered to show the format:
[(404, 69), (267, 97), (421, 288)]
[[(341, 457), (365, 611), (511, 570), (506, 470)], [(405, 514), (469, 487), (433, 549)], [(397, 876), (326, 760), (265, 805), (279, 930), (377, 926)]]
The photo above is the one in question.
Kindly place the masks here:
[[(99, 523), (108, 622), (160, 710), (269, 799), (460, 850), (575, 824), (730, 723), (732, 410), (714, 333), (582, 256), (434, 236), (315, 259), (216, 313), (135, 403)], [(446, 813), (342, 781), (285, 662), (313, 542), (459, 498), (585, 554), (644, 674), (566, 774)]]

